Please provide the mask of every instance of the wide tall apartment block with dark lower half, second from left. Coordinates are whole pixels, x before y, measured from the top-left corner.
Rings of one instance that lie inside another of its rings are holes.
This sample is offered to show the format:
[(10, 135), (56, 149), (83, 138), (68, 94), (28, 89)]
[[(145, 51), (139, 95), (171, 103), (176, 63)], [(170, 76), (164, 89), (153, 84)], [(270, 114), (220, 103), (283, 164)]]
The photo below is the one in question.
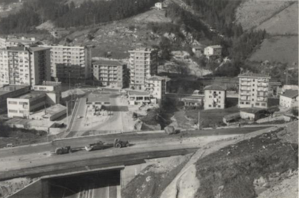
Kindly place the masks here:
[(91, 78), (92, 46), (41, 45), (50, 48), (51, 77), (54, 81), (68, 82)]

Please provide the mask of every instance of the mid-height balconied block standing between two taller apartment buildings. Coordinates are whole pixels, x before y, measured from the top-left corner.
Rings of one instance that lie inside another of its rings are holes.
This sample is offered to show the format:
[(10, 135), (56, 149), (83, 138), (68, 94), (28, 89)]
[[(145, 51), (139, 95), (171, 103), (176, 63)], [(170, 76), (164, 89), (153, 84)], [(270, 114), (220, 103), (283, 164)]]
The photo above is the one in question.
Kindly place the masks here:
[(92, 65), (94, 80), (100, 81), (101, 85), (113, 85), (116, 87), (127, 87), (129, 76), (127, 65), (119, 61), (100, 60)]

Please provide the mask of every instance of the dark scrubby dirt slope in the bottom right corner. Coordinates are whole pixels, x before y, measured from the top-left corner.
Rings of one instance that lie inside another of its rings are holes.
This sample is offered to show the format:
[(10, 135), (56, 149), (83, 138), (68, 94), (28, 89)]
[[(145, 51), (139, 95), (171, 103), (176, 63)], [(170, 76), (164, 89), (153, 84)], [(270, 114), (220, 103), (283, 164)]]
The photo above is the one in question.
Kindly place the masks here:
[(199, 159), (196, 168), (201, 185), (196, 197), (255, 197), (272, 187), (276, 192), (264, 197), (279, 197), (289, 188), (297, 197), (292, 178), (281, 183), (298, 169), (298, 141), (289, 139), (295, 139), (297, 129), (298, 122), (293, 122), (283, 130), (240, 141)]

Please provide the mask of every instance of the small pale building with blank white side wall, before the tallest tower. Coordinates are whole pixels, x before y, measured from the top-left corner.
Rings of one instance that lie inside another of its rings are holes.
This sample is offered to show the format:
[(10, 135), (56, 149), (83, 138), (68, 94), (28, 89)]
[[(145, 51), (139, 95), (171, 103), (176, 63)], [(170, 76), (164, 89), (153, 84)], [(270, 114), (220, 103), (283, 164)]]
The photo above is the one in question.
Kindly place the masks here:
[(165, 77), (152, 76), (147, 79), (146, 91), (159, 103), (165, 101), (166, 83)]

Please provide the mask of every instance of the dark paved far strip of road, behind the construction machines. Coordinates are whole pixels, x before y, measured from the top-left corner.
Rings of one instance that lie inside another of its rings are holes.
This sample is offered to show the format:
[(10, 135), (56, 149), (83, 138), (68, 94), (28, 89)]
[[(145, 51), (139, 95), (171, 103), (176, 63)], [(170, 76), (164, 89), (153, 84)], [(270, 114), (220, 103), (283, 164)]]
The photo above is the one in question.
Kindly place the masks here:
[(14, 147), (9, 149), (0, 149), (0, 161), (5, 157), (15, 158), (19, 155), (29, 155), (32, 153), (43, 153), (54, 151), (57, 147), (71, 146), (73, 147), (84, 147), (88, 143), (94, 143), (98, 140), (103, 142), (113, 142), (115, 138), (128, 140), (134, 145), (138, 145), (143, 141), (152, 142), (168, 142), (180, 138), (190, 138), (190, 137), (201, 137), (201, 136), (215, 136), (215, 135), (233, 135), (233, 134), (245, 134), (253, 131), (265, 129), (265, 127), (253, 127), (253, 128), (234, 128), (234, 129), (211, 129), (211, 130), (199, 130), (190, 132), (181, 132), (177, 135), (167, 135), (165, 133), (147, 133), (147, 134), (137, 134), (137, 133), (124, 133), (124, 134), (112, 134), (112, 135), (98, 135), (98, 136), (81, 136), (76, 138), (66, 138), (43, 145), (38, 146), (22, 146)]

